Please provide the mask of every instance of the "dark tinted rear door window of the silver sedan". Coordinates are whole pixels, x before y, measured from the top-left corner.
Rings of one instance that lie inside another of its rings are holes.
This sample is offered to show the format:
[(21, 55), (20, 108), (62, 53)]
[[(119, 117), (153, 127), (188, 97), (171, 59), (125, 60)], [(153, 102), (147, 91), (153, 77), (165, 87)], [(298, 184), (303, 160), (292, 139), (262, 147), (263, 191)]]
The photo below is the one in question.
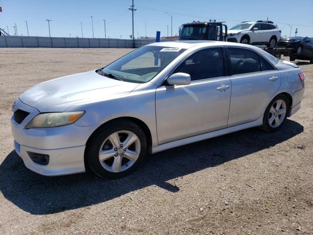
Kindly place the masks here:
[(232, 75), (261, 71), (257, 53), (244, 48), (228, 47)]

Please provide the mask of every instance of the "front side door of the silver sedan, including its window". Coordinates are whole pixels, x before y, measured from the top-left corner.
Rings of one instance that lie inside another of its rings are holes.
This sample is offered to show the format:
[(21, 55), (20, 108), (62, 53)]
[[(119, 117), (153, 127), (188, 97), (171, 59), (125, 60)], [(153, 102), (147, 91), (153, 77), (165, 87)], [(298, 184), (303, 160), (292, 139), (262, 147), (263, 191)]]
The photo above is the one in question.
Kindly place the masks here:
[(227, 127), (231, 83), (224, 73), (222, 48), (203, 49), (173, 73), (191, 76), (190, 85), (156, 89), (158, 143), (166, 143)]

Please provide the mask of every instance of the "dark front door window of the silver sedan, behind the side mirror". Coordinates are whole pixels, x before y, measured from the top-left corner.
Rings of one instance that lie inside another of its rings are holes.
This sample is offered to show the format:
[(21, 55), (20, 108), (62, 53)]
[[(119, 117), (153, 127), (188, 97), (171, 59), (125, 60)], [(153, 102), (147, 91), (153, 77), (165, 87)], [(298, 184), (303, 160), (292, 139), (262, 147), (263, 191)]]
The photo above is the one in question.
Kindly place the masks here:
[(208, 48), (198, 51), (174, 71), (188, 73), (191, 81), (224, 76), (224, 59), (222, 48)]

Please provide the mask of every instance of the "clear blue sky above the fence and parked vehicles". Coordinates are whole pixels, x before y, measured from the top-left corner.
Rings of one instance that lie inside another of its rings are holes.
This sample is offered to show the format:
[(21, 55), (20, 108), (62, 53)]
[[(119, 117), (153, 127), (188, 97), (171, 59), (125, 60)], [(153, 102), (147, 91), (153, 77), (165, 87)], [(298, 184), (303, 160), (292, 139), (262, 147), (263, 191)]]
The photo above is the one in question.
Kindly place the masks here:
[[(107, 37), (129, 39), (132, 34), (132, 15), (128, 10), (131, 0), (0, 0), (0, 27), (9, 27), (14, 32), (17, 24), (19, 35), (48, 36), (50, 22), (51, 36), (81, 37), (83, 22), (84, 37), (92, 37), (91, 18), (93, 16), (94, 37), (104, 37), (106, 20)], [(226, 21), (231, 27), (242, 21), (269, 20), (282, 30), (282, 36), (289, 35), (292, 24), (294, 36), (298, 28), (299, 36), (313, 37), (313, 0), (134, 0), (134, 35), (155, 37), (156, 31), (167, 36), (167, 24), (171, 34), (173, 15), (173, 35), (178, 34), (180, 24), (216, 19)]]

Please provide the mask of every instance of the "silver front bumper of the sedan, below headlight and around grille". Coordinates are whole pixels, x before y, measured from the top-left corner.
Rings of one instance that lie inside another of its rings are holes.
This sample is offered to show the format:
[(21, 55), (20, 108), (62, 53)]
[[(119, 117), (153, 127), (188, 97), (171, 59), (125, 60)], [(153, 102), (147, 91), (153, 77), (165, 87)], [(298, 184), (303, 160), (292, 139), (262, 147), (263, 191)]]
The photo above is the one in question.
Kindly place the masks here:
[[(13, 111), (17, 109), (30, 113), (21, 124), (11, 118), (15, 151), (28, 169), (47, 176), (85, 172), (86, 142), (99, 125), (81, 127), (71, 124), (53, 128), (25, 129), (28, 121), (39, 114), (39, 111), (19, 99)], [(49, 155), (48, 164), (33, 162), (27, 152)]]

